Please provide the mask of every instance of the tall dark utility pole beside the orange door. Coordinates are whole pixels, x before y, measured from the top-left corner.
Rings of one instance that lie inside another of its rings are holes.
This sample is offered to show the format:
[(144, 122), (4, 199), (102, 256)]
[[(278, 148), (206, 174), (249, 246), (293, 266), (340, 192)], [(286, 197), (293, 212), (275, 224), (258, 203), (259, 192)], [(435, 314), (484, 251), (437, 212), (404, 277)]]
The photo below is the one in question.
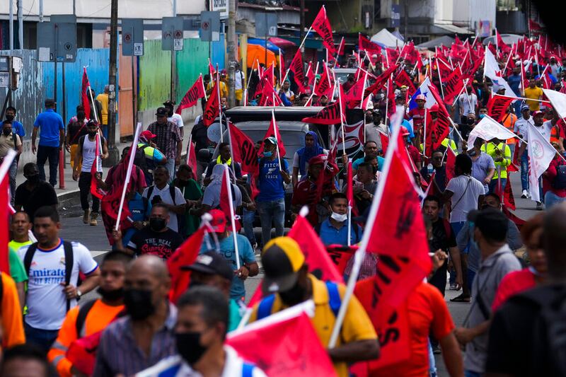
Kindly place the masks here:
[(115, 166), (120, 160), (116, 148), (116, 96), (117, 96), (117, 51), (118, 51), (118, 0), (112, 0), (110, 8), (110, 74), (108, 75), (108, 158), (105, 166)]

